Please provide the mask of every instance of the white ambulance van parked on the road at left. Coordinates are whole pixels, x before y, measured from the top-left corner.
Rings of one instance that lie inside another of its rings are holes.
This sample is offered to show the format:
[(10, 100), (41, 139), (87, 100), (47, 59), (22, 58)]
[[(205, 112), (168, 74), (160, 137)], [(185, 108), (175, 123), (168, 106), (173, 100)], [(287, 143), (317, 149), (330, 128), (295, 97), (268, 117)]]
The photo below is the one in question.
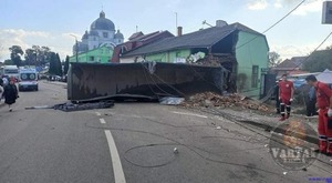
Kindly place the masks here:
[(19, 91), (38, 91), (38, 72), (35, 69), (20, 69)]

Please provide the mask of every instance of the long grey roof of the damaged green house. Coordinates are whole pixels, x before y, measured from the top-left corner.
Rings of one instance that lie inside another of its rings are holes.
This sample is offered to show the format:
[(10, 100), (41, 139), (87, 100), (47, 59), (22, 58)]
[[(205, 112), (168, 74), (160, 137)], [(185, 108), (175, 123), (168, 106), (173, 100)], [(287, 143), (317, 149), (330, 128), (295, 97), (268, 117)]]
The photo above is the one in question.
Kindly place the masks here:
[[(147, 53), (158, 53), (168, 50), (210, 48), (216, 42), (225, 39), (235, 31), (245, 31), (258, 35), (263, 35), (241, 23), (232, 23), (225, 27), (214, 27), (180, 37), (166, 38), (154, 43), (137, 48), (123, 54), (123, 57), (142, 55)], [(263, 35), (264, 37), (264, 35)]]

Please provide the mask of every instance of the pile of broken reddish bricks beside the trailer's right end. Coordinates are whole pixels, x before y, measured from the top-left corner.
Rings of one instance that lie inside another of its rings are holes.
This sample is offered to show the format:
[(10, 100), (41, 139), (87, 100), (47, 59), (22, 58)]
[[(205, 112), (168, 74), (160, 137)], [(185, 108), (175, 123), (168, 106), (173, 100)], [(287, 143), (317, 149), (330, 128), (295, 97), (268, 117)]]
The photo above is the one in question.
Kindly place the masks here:
[(183, 103), (184, 106), (219, 106), (219, 108), (232, 108), (239, 106), (242, 109), (257, 110), (268, 112), (269, 108), (261, 104), (259, 101), (255, 101), (242, 96), (240, 94), (219, 95), (212, 92), (199, 93), (190, 96)]

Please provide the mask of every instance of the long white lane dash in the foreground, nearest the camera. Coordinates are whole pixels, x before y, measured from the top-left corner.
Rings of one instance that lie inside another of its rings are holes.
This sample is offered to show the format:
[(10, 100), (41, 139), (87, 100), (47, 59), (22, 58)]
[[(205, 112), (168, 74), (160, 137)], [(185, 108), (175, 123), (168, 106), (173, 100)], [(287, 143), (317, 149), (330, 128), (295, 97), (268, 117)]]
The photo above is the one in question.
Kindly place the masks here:
[(106, 134), (108, 148), (110, 148), (110, 152), (111, 152), (115, 183), (125, 183), (126, 179), (124, 176), (120, 155), (118, 155), (113, 135), (110, 130), (105, 130), (105, 134)]

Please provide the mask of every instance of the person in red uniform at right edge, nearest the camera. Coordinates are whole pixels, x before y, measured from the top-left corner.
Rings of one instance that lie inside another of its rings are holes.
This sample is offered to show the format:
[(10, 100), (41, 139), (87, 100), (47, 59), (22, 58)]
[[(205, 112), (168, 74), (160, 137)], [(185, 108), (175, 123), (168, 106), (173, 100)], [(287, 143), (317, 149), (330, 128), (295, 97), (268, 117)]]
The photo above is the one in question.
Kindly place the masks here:
[[(332, 155), (332, 91), (325, 83), (319, 82), (314, 75), (307, 77), (309, 85), (315, 88), (319, 108), (319, 151)], [(330, 124), (329, 124), (330, 123)]]

